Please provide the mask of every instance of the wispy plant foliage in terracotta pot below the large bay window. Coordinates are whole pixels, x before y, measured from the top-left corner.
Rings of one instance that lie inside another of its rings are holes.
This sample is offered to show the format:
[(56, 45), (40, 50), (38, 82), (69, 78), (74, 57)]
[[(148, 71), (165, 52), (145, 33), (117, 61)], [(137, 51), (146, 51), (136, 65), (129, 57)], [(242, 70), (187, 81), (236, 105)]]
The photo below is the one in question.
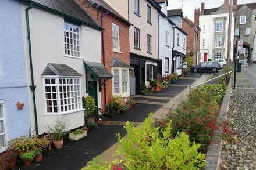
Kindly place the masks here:
[(54, 140), (61, 140), (65, 136), (67, 128), (69, 128), (69, 121), (63, 117), (58, 117), (53, 124), (48, 124), (45, 128), (52, 133)]

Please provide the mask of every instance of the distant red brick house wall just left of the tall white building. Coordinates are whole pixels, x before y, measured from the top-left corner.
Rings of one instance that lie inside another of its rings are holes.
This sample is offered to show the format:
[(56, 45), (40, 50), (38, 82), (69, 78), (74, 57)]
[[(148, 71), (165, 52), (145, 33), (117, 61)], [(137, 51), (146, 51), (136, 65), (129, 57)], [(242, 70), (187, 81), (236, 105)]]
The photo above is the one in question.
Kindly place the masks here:
[[(196, 60), (196, 52), (200, 50), (200, 30), (198, 27), (190, 27), (189, 24), (187, 24), (184, 20), (182, 20), (182, 28), (184, 31), (187, 32), (187, 53), (193, 52), (193, 59), (194, 59), (194, 64)], [(198, 35), (197, 35), (197, 33)], [(197, 37), (197, 45), (194, 45), (195, 37)], [(196, 50), (197, 49), (197, 50)]]

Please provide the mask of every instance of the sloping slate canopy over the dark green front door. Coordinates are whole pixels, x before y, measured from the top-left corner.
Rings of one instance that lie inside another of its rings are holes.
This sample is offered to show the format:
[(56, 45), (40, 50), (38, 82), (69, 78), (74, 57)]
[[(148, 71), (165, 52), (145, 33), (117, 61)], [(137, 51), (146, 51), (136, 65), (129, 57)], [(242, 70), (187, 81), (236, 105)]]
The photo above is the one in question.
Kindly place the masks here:
[(112, 78), (113, 75), (106, 70), (101, 63), (84, 61), (84, 67), (94, 75), (95, 78)]

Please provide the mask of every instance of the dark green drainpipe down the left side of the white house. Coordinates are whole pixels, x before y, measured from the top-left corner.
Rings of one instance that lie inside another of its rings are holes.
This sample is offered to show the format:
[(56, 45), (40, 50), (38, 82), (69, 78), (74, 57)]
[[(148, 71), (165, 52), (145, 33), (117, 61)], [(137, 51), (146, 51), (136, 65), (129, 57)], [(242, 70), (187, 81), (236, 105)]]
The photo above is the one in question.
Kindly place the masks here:
[(29, 62), (30, 62), (30, 75), (31, 75), (31, 85), (29, 86), (33, 95), (33, 106), (34, 106), (34, 116), (35, 116), (35, 132), (38, 135), (38, 125), (37, 125), (37, 106), (35, 103), (35, 88), (34, 85), (34, 73), (33, 73), (33, 62), (32, 62), (32, 52), (31, 52), (31, 39), (30, 39), (30, 28), (29, 28), (29, 10), (33, 7), (33, 3), (26, 8), (26, 21), (27, 21), (27, 41), (29, 43)]

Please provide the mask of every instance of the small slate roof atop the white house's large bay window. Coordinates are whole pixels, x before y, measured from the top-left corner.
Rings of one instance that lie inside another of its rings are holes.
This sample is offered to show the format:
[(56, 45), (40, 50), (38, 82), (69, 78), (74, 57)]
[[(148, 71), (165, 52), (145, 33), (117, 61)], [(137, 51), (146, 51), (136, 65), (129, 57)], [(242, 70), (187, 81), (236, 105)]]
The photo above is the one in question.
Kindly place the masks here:
[(53, 64), (53, 63), (47, 64), (44, 71), (42, 71), (41, 76), (43, 75), (82, 76), (76, 70), (67, 66), (66, 64)]

